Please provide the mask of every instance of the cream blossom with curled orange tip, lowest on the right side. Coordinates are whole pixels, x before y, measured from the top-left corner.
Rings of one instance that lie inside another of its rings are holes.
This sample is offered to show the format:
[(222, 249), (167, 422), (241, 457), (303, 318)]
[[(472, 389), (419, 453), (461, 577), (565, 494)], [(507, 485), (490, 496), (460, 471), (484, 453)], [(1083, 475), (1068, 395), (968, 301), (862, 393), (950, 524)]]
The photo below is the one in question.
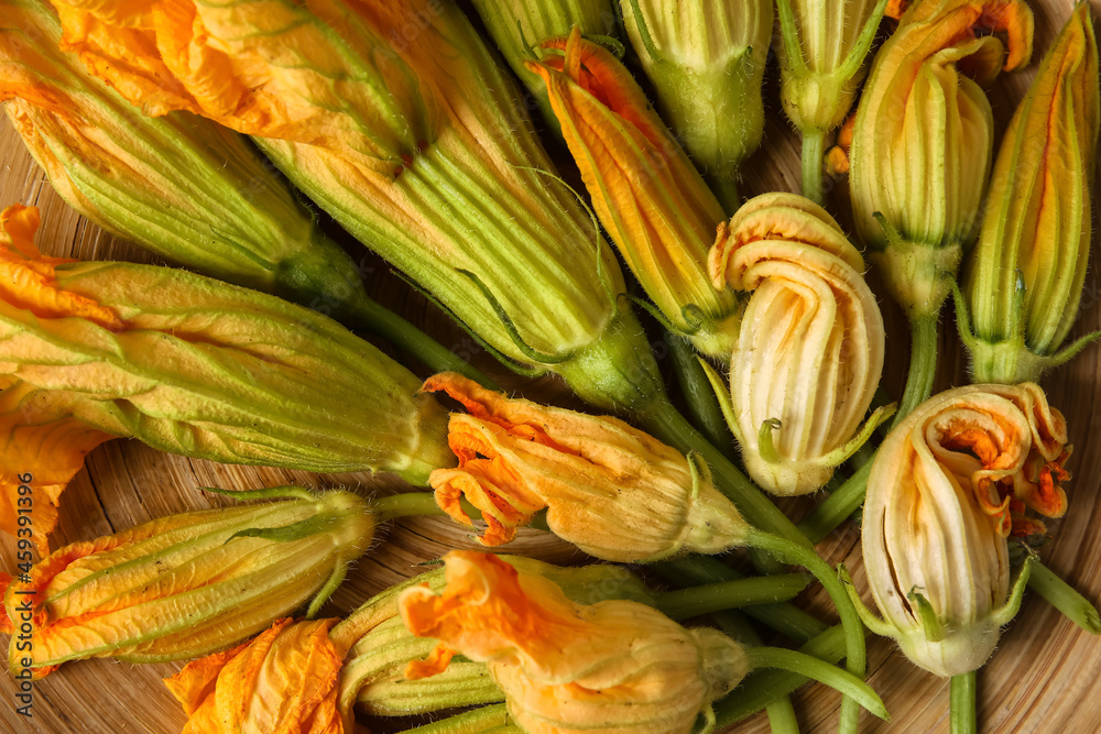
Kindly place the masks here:
[(862, 610), (869, 628), (938, 676), (982, 666), (1028, 579), (1026, 562), (1011, 588), (1006, 536), (1043, 532), (1026, 508), (1066, 511), (1066, 441), (1034, 383), (950, 390), (902, 420), (868, 480), (864, 567), (884, 616)]

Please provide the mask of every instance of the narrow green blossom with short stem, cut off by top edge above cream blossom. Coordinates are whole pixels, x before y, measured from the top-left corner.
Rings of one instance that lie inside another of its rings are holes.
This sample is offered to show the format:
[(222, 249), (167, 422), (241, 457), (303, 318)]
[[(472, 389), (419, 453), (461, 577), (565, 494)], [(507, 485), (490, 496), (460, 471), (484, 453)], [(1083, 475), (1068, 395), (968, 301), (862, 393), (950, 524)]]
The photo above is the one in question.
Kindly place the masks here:
[(776, 0), (780, 99), (803, 136), (803, 196), (824, 202), (827, 133), (840, 127), (868, 74), (864, 59), (887, 0)]

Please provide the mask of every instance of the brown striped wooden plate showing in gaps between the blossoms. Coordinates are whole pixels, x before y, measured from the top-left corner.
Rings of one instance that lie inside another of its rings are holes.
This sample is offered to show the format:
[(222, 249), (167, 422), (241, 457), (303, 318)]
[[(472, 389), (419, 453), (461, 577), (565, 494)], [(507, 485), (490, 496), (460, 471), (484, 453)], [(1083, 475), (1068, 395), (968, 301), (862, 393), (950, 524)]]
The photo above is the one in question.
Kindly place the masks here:
[[(1094, 3), (1097, 14), (1097, 3)], [(1046, 0), (1036, 7), (1036, 54), (1047, 48), (1070, 13), (1069, 0)], [(989, 96), (1001, 128), (1024, 94), (1035, 68), (1003, 75)], [(776, 79), (771, 69), (766, 81), (770, 123), (765, 144), (746, 166), (752, 177), (743, 183), (746, 195), (767, 190), (798, 190), (798, 140), (780, 114)], [(153, 262), (138, 248), (118, 241), (70, 210), (45, 180), (7, 120), (0, 125), (0, 206), (22, 202), (42, 210), (39, 245), (46, 254), (89, 260)], [(833, 191), (831, 209), (843, 212), (844, 186)], [(1094, 197), (1097, 199), (1097, 197)], [(1097, 209), (1097, 204), (1094, 204)], [(349, 243), (350, 247), (356, 247)], [(357, 254), (362, 249), (353, 250)], [(1093, 245), (1094, 263), (1098, 245)], [(393, 277), (378, 261), (370, 288), (378, 299), (421, 325), (443, 343), (457, 350), (477, 351), (461, 331), (427, 306)], [(370, 271), (371, 269), (369, 269)], [(1082, 309), (1073, 336), (1101, 328), (1101, 277), (1094, 264), (1086, 281)], [(872, 286), (879, 284), (872, 276)], [(879, 291), (882, 293), (882, 289)], [(904, 355), (908, 338), (897, 309), (883, 302), (889, 325), (889, 365), (885, 385), (901, 394)], [(941, 360), (937, 390), (966, 384), (964, 358), (955, 324), (941, 324)], [(658, 357), (662, 353), (658, 352)], [(484, 354), (475, 362), (526, 397), (578, 407), (565, 388), (553, 380), (524, 383), (503, 373)], [(668, 370), (668, 364), (663, 364)], [(1067, 485), (1070, 510), (1053, 525), (1055, 540), (1043, 551), (1045, 562), (1091, 600), (1101, 598), (1101, 347), (1087, 349), (1044, 381), (1051, 405), (1066, 415), (1075, 452), (1069, 462), (1073, 480)], [(115, 440), (92, 451), (64, 494), (58, 529), (52, 547), (122, 530), (168, 513), (226, 504), (230, 501), (199, 492), (200, 486), (254, 489), (299, 483), (307, 486), (355, 486), (367, 494), (401, 491), (400, 481), (366, 474), (314, 475), (305, 472), (251, 467), (229, 467), (160, 453), (137, 441)], [(803, 500), (785, 504), (798, 519), (811, 505)], [(359, 561), (346, 583), (327, 604), (323, 615), (340, 615), (381, 589), (418, 572), (416, 565), (436, 558), (448, 548), (472, 547), (467, 533), (442, 518), (402, 521), (388, 528), (377, 546)], [(553, 562), (582, 562), (585, 557), (554, 538), (523, 532), (509, 552), (533, 555)], [(864, 589), (859, 534), (846, 526), (819, 546), (832, 563), (844, 561)], [(14, 572), (14, 543), (0, 535), (0, 569)], [(866, 596), (865, 596), (866, 598)], [(798, 600), (822, 618), (833, 618), (828, 602), (815, 590)], [(3, 642), (0, 638), (0, 642)], [(0, 676), (0, 731), (59, 734), (63, 732), (178, 732), (184, 715), (161, 679), (176, 672), (183, 662), (129, 665), (111, 660), (66, 664), (37, 681), (33, 717), (15, 713), (13, 681)], [(948, 681), (909, 665), (893, 645), (869, 639), (869, 682), (879, 691), (892, 714), (883, 723), (862, 714), (868, 732), (942, 732), (948, 730)], [(1043, 600), (1027, 595), (993, 660), (979, 677), (979, 720), (984, 732), (1097, 732), (1101, 731), (1101, 639), (1091, 637), (1066, 621)], [(836, 731), (838, 695), (821, 686), (804, 688), (794, 697), (804, 732)], [(372, 731), (389, 730), (375, 726)], [(763, 715), (743, 723), (739, 731), (766, 732)]]

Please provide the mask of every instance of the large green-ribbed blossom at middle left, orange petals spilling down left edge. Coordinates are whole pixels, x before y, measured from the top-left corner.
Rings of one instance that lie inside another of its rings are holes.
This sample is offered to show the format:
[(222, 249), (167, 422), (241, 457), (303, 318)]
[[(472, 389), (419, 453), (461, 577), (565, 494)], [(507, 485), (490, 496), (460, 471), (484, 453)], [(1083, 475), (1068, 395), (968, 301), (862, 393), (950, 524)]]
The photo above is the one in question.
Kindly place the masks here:
[(46, 258), (37, 226), (33, 207), (0, 215), (0, 528), (30, 486), (44, 551), (65, 484), (112, 437), (413, 483), (454, 464), (444, 409), (335, 321), (179, 270)]

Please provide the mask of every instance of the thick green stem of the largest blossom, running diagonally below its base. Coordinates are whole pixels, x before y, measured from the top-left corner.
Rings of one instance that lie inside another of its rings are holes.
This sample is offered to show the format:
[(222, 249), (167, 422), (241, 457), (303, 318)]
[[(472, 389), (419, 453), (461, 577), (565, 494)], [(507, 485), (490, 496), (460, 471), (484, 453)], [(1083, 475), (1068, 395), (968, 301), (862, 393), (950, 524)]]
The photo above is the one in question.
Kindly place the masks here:
[(745, 474), (730, 463), (698, 430), (665, 399), (654, 401), (640, 418), (646, 430), (682, 451), (696, 451), (711, 469), (715, 485), (726, 494), (752, 525), (810, 548), (810, 541)]

